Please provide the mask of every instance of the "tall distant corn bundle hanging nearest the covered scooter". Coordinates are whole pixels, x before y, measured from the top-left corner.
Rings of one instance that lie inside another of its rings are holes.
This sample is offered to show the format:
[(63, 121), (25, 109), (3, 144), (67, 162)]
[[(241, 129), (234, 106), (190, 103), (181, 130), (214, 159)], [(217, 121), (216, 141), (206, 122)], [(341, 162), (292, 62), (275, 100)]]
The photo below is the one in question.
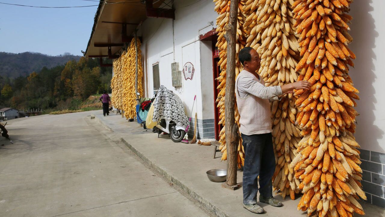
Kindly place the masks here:
[[(136, 117), (136, 91), (135, 91), (135, 73), (136, 73), (136, 50), (135, 50), (135, 39), (132, 39), (130, 46), (127, 49), (127, 53), (122, 55), (122, 79), (123, 79), (123, 102), (122, 108), (124, 110), (124, 117), (127, 119), (133, 119)], [(137, 39), (138, 44), (138, 92), (142, 96), (142, 53), (141, 53), (141, 44), (140, 40)]]

